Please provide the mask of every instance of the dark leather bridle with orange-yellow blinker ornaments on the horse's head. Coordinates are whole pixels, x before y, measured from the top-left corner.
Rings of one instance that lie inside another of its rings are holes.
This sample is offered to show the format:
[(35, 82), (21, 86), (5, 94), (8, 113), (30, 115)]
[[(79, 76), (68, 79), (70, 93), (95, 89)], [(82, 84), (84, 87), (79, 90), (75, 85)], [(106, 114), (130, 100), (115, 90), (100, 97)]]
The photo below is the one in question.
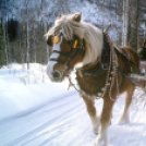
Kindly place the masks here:
[[(54, 44), (58, 42), (58, 40), (60, 40), (60, 38), (63, 37), (63, 34), (60, 33), (57, 36), (54, 36)], [(66, 66), (68, 70), (71, 70), (71, 62), (73, 61), (73, 59), (81, 52), (82, 57), (84, 57), (85, 53), (85, 47), (84, 47), (84, 38), (80, 39), (76, 35), (73, 35), (73, 39), (68, 41), (71, 50), (69, 52), (62, 52), (62, 51), (58, 51), (58, 50), (52, 50), (52, 53), (58, 53), (60, 56), (63, 56), (66, 59), (66, 61), (57, 59), (57, 58), (50, 58), (49, 61), (56, 61), (58, 63), (62, 63)], [(76, 50), (74, 52), (74, 49)], [(74, 52), (74, 54), (73, 54)]]

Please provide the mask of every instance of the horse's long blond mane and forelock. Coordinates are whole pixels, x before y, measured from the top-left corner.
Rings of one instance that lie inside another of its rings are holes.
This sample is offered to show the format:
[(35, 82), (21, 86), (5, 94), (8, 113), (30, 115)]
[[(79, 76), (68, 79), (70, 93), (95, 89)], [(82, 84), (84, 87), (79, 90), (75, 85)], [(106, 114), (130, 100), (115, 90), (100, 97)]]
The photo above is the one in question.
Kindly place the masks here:
[(74, 15), (75, 14), (62, 15), (57, 19), (54, 26), (49, 29), (46, 36), (54, 35), (62, 29), (63, 37), (66, 40), (71, 40), (73, 34), (81, 39), (84, 38), (86, 51), (83, 64), (95, 62), (97, 58), (100, 59), (101, 57), (102, 32), (89, 23), (74, 21)]

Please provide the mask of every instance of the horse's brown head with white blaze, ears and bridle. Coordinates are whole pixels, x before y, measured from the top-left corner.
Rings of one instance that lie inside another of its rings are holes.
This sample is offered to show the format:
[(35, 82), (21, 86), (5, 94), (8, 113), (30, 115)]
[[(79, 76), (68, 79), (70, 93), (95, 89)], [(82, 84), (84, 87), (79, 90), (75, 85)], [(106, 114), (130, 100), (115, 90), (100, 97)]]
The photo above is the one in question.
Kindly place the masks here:
[[(81, 16), (81, 13), (76, 13), (70, 16), (70, 19), (68, 17), (66, 21), (65, 17), (60, 15), (56, 23), (60, 23), (60, 20), (61, 23), (54, 26), (56, 31), (51, 29), (52, 32), (49, 32), (50, 34), (47, 36), (48, 46), (52, 46), (52, 54), (48, 62), (47, 74), (52, 82), (62, 82), (74, 65), (83, 60), (85, 52), (84, 39), (75, 35), (69, 25), (64, 25), (70, 21), (80, 23)], [(66, 28), (69, 31), (65, 32), (64, 29)]]

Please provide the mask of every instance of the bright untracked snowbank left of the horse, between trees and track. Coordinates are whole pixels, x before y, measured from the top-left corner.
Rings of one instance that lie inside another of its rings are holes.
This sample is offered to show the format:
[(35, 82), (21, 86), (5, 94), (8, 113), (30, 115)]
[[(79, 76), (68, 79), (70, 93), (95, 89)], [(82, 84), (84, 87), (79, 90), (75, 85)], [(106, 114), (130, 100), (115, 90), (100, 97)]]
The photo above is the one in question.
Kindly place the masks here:
[[(26, 111), (27, 109), (38, 108), (47, 101), (60, 96), (60, 93), (65, 94), (66, 85), (50, 83), (46, 76), (48, 83), (35, 84), (35, 80), (38, 78), (38, 64), (35, 66), (36, 76), (33, 76), (33, 72), (21, 70), (21, 65), (14, 64), (13, 69), (0, 70), (0, 107), (4, 111), (0, 114), (0, 120), (16, 114), (17, 112)], [(40, 71), (39, 71), (40, 72)], [(31, 84), (26, 84), (29, 80)], [(38, 78), (39, 81), (39, 78)], [(54, 92), (54, 88), (58, 92)], [(68, 94), (68, 93), (66, 93)], [(66, 95), (65, 94), (65, 95)], [(51, 97), (51, 98), (50, 98)]]

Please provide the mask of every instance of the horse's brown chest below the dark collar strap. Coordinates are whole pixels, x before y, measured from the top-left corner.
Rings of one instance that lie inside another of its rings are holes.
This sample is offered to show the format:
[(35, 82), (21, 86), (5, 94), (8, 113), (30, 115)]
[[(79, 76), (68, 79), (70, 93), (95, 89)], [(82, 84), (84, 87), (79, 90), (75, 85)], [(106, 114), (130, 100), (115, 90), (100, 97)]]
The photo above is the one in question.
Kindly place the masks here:
[(81, 72), (77, 72), (76, 81), (82, 92), (89, 96), (100, 96), (106, 84), (106, 75), (107, 73), (97, 76), (83, 75)]

